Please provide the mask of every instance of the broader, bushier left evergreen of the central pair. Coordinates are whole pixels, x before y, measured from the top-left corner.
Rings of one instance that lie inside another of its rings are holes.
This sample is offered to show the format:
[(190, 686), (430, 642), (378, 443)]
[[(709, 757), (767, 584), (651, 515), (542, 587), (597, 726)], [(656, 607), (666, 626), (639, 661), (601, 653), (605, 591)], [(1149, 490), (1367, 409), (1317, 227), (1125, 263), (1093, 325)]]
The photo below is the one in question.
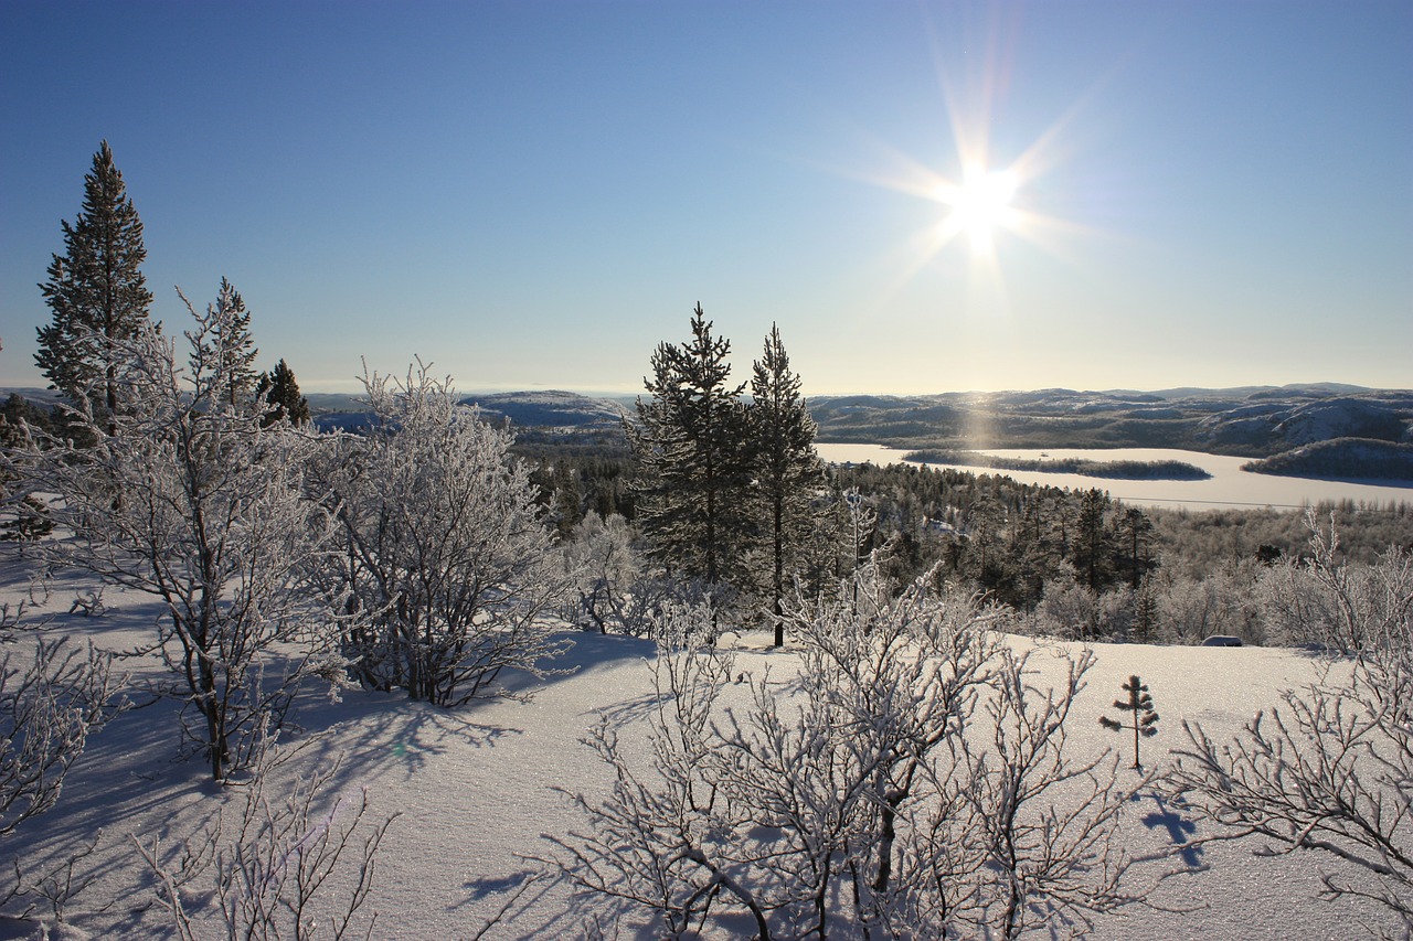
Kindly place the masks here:
[(728, 386), (731, 343), (712, 336), (701, 304), (692, 339), (660, 343), (651, 394), (627, 425), (639, 466), (637, 521), (649, 554), (674, 575), (740, 585), (747, 537), (750, 454), (745, 384)]

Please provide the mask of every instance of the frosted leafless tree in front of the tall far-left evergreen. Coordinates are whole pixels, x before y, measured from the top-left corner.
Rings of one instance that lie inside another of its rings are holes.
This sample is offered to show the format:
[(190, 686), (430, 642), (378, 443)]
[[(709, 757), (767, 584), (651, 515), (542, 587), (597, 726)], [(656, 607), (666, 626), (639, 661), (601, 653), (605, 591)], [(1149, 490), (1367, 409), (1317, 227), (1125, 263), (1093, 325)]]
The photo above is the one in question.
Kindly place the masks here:
[(305, 678), (336, 673), (339, 615), (305, 591), (333, 528), (304, 497), (315, 435), (230, 406), (229, 297), (187, 307), (187, 369), (143, 321), (114, 342), (130, 408), (81, 400), (71, 421), (90, 448), (31, 442), (11, 461), (31, 490), (62, 496), (54, 520), (73, 537), (51, 544), (57, 562), (161, 602), (151, 651), (171, 678), (158, 692), (185, 704), (188, 738), (225, 780), (283, 725)]

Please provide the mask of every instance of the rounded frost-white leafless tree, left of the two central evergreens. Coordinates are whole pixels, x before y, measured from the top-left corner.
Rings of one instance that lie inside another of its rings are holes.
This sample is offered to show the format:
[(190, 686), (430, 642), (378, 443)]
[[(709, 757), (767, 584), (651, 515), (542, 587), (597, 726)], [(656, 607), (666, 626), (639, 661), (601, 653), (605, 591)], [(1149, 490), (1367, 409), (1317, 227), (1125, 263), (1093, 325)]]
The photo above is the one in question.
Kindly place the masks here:
[(322, 581), (369, 616), (345, 636), (357, 677), (461, 705), (503, 694), (504, 670), (564, 649), (545, 623), (572, 589), (512, 435), (420, 365), (366, 376), (372, 427), (331, 439), (319, 479), (345, 551)]

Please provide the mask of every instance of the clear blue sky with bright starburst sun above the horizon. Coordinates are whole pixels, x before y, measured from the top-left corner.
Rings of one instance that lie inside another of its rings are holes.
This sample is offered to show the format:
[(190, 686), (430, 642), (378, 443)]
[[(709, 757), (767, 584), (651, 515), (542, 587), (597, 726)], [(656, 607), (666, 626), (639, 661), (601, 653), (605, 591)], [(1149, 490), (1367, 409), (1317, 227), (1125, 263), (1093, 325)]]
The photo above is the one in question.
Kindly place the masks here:
[(103, 138), (305, 391), (1413, 387), (1407, 0), (3, 0), (0, 386)]

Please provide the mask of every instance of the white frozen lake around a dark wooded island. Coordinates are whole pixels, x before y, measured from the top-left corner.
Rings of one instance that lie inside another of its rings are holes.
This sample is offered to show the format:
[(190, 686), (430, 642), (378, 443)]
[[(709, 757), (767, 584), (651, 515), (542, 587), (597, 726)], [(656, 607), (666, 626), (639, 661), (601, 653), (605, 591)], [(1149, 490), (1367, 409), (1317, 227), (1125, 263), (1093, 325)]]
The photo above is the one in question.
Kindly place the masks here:
[[(815, 444), (820, 456), (831, 463), (901, 463), (904, 451), (868, 444)], [(940, 465), (976, 473), (998, 473), (1022, 483), (1043, 483), (1054, 487), (1108, 490), (1125, 503), (1136, 506), (1187, 506), (1194, 510), (1222, 506), (1303, 507), (1324, 500), (1365, 500), (1369, 503), (1413, 503), (1413, 486), (1349, 483), (1344, 480), (1313, 480), (1308, 478), (1280, 478), (1251, 473), (1241, 465), (1249, 458), (1177, 451), (1169, 448), (1051, 448), (1047, 451), (1023, 448), (995, 448), (983, 454), (1030, 461), (1044, 458), (1087, 458), (1089, 461), (1183, 461), (1202, 468), (1212, 476), (1207, 480), (1115, 480), (1089, 478), (1080, 473), (1046, 473), (1043, 470), (1002, 470), (971, 465)]]

